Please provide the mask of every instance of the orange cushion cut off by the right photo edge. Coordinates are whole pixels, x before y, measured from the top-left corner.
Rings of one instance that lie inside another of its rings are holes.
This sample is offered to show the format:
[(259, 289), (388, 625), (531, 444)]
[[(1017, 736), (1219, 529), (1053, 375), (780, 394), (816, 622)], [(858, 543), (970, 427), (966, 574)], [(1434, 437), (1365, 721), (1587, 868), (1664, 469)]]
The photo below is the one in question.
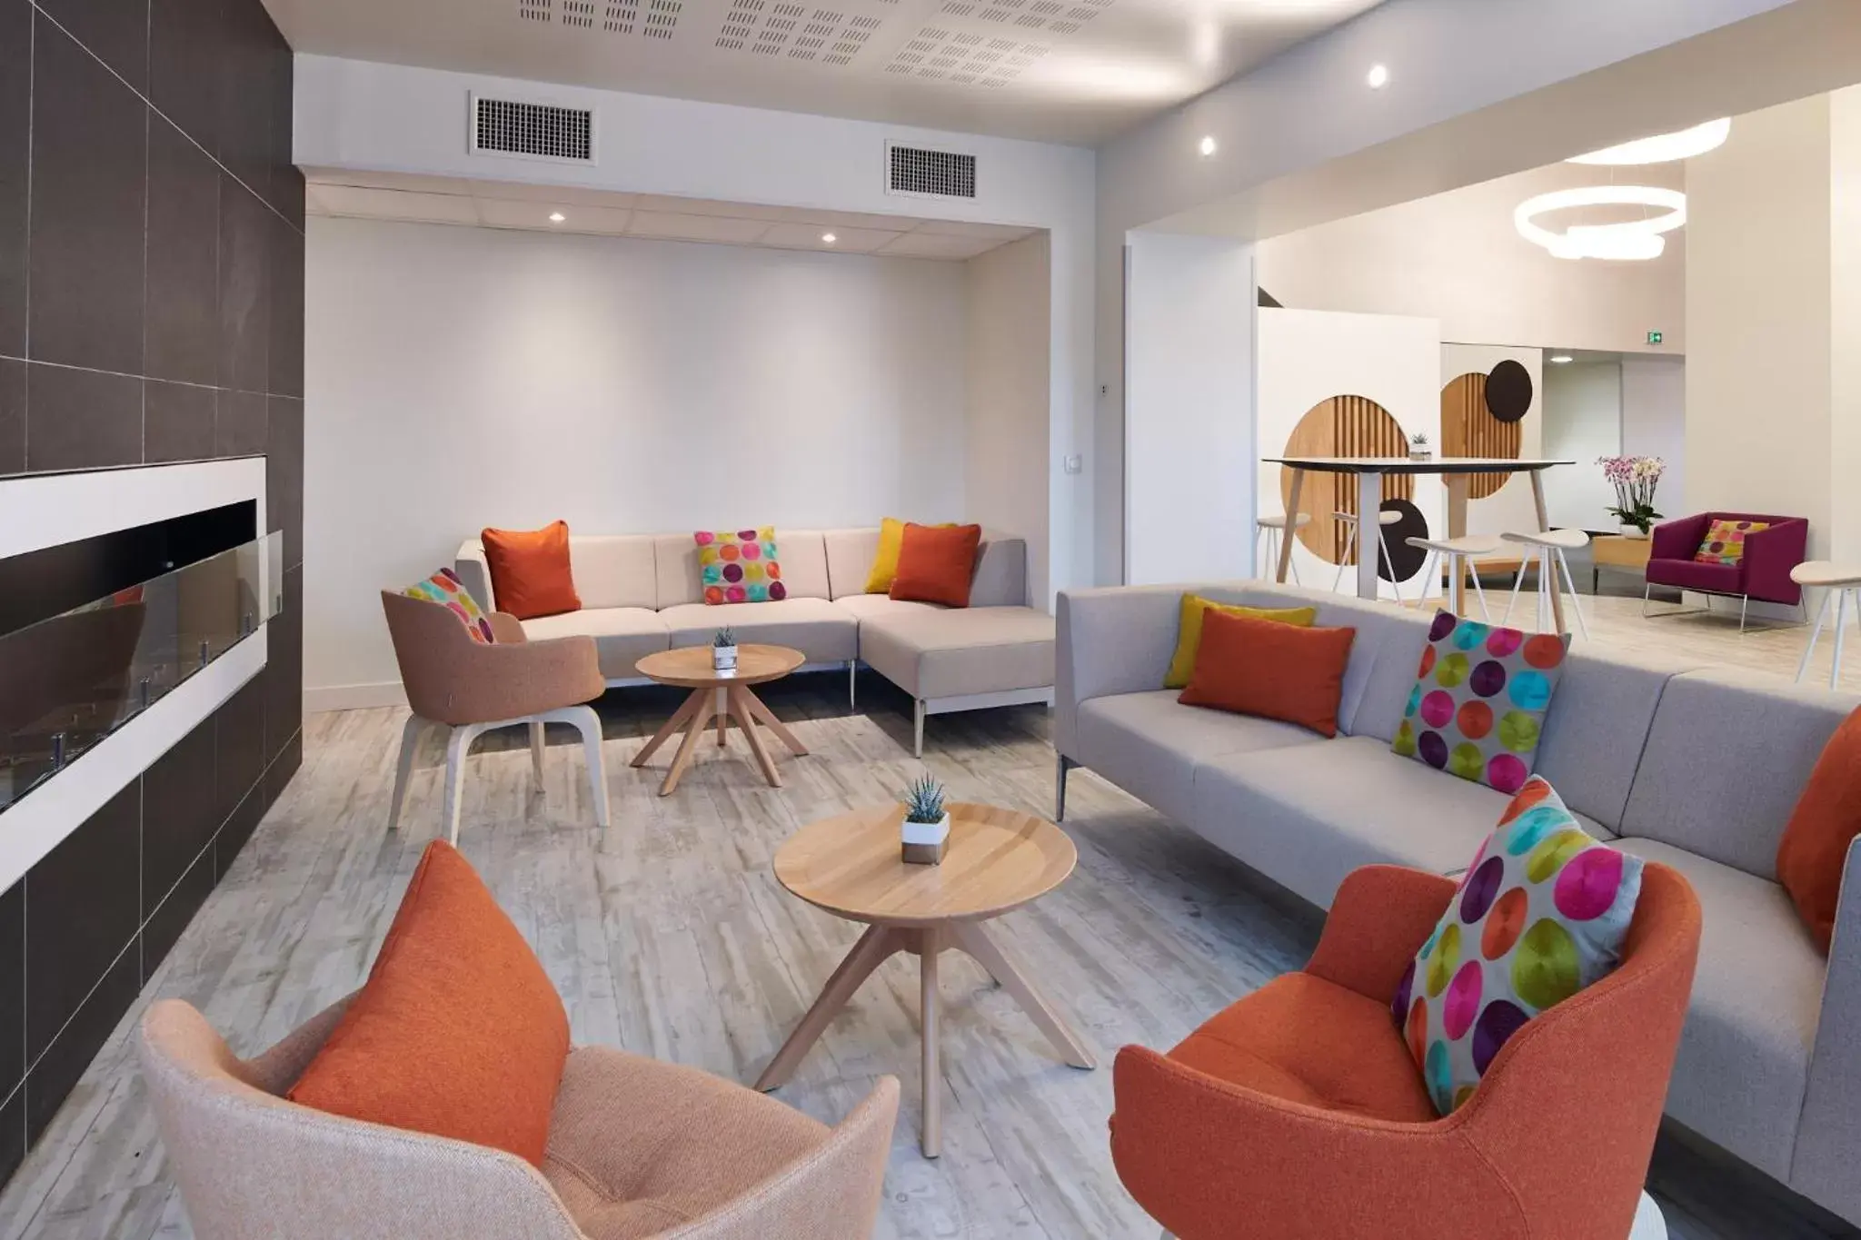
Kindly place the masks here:
[(1848, 848), (1861, 835), (1861, 710), (1848, 716), (1816, 759), (1777, 844), (1777, 881), (1809, 935), (1829, 950)]

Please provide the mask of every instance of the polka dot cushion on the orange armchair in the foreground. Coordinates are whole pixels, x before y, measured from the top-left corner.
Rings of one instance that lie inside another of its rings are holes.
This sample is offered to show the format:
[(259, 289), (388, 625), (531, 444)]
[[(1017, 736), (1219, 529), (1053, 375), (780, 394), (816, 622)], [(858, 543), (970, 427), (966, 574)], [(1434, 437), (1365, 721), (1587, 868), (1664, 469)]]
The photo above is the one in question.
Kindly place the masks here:
[(1466, 1102), (1532, 1017), (1615, 970), (1640, 896), (1641, 859), (1528, 779), (1390, 1002), (1437, 1112)]

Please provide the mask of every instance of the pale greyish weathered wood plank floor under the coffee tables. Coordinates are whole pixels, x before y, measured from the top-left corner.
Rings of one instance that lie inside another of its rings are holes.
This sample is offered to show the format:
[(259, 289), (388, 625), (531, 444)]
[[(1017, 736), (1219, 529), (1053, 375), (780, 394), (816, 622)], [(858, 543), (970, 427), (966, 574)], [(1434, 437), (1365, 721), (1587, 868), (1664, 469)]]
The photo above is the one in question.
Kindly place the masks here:
[[(1675, 621), (1645, 641), (1692, 630)], [(1755, 658), (1770, 645), (1747, 638), (1734, 649)], [(1787, 662), (1794, 671), (1794, 654)], [(895, 798), (921, 766), (962, 799), (1050, 812), (1044, 710), (934, 718), (919, 764), (908, 701), (862, 677), (860, 712), (849, 714), (843, 686), (839, 677), (769, 686), (770, 706), (813, 751), (780, 759), (787, 788), (765, 786), (733, 740), (728, 755), (705, 745), (670, 799), (655, 796), (657, 770), (627, 760), (679, 693), (610, 693), (601, 708), (614, 805), (607, 833), (594, 827), (573, 734), (551, 734), (542, 794), (521, 736), (488, 738), (471, 762), (460, 844), (536, 944), (579, 1041), (750, 1082), (856, 937), (774, 883), (770, 855), (789, 833)], [(251, 1052), (359, 983), (439, 827), (434, 747), (415, 773), (402, 831), (383, 831), (400, 718), (363, 710), (309, 721), (301, 773), (145, 1002), (186, 998)], [(878, 1075), (901, 1078), (904, 1108), (877, 1236), (1154, 1236), (1107, 1154), (1111, 1052), (1130, 1041), (1172, 1045), (1299, 967), (1316, 943), (1314, 909), (1094, 775), (1074, 775), (1066, 829), (1079, 846), (1074, 877), (997, 926), (1105, 1067), (1055, 1062), (1012, 998), (966, 957), (947, 957), (944, 1156), (921, 1158), (916, 974), (893, 959), (778, 1095), (832, 1121)], [(192, 1234), (134, 1073), (128, 1028), (138, 1015), (0, 1194), (0, 1236)], [(1679, 1240), (1861, 1236), (1673, 1138), (1656, 1153), (1653, 1184)]]

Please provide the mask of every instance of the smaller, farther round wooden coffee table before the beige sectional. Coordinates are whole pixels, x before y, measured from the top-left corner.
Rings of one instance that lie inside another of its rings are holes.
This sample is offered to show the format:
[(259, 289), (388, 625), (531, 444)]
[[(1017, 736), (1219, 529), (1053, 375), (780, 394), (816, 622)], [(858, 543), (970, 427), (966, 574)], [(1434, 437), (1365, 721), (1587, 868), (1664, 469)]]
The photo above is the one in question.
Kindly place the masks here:
[(659, 751), (659, 745), (672, 740), (672, 732), (683, 725), (685, 740), (679, 742), (679, 751), (672, 759), (672, 770), (666, 772), (664, 783), (659, 785), (659, 796), (672, 796), (672, 790), (679, 786), (679, 779), (685, 777), (685, 768), (690, 766), (692, 753), (698, 749), (698, 738), (716, 719), (716, 744), (728, 744), (730, 725), (735, 723), (743, 738), (750, 744), (756, 764), (763, 768), (763, 779), (770, 786), (780, 788), (782, 773), (776, 770), (776, 760), (769, 757), (769, 747), (763, 745), (756, 723), (759, 721), (769, 727), (797, 757), (808, 757), (808, 749), (763, 705), (763, 699), (750, 692), (750, 686), (780, 680), (800, 667), (802, 662), (802, 653), (791, 651), (785, 645), (739, 645), (737, 667), (733, 671), (716, 671), (711, 667), (709, 645), (687, 645), (676, 651), (648, 654), (635, 664), (642, 677), (687, 688), (692, 695), (666, 719), (663, 729), (653, 732), (646, 747), (633, 757), (633, 764), (646, 766), (646, 760)]

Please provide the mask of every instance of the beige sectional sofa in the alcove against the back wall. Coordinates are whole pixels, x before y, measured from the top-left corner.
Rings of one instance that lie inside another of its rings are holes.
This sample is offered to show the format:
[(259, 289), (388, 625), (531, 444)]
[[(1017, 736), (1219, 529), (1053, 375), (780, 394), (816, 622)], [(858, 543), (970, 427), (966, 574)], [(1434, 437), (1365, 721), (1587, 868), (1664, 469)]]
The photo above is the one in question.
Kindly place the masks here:
[[(690, 534), (573, 534), (581, 610), (523, 621), (523, 632), (594, 638), (610, 686), (646, 684), (642, 656), (707, 645), (722, 625), (739, 641), (800, 651), (804, 671), (845, 667), (849, 703), (864, 662), (912, 695), (919, 757), (927, 716), (1053, 701), (1053, 617), (1029, 606), (1025, 541), (983, 535), (968, 608), (865, 593), (877, 526), (776, 530), (776, 547), (787, 599), (707, 606)], [(480, 604), (497, 606), (478, 539), (460, 545), (454, 567)]]

